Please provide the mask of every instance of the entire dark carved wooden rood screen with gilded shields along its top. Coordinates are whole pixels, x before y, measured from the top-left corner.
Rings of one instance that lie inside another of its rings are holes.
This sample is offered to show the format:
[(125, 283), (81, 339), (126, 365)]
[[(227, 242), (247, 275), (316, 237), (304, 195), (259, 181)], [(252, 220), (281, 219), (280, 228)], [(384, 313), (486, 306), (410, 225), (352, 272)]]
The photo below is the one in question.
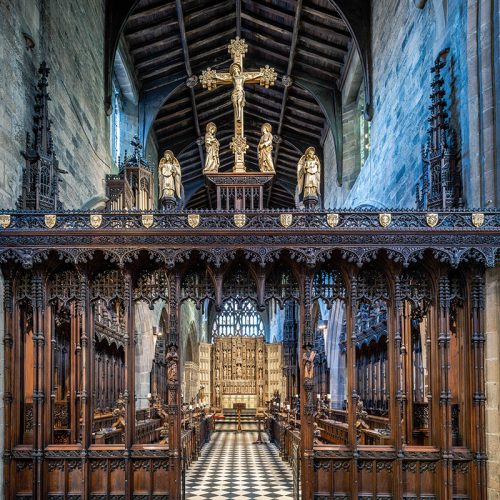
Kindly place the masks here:
[[(2, 215), (7, 498), (180, 498), (182, 460), (211, 425), (181, 408), (179, 310), (237, 286), (298, 311), (281, 397), (299, 414), (269, 418), (302, 498), (485, 498), (484, 270), (500, 214), (96, 215)], [(231, 281), (235, 268), (251, 279)], [(145, 401), (135, 316), (158, 303)], [(328, 409), (319, 309), (342, 325)]]

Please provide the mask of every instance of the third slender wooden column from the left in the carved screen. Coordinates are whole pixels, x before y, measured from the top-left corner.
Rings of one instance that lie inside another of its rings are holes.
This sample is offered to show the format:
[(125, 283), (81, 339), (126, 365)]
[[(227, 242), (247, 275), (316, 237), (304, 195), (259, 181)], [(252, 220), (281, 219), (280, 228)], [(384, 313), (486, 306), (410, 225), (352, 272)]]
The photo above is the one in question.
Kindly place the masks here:
[(80, 278), (80, 308), (81, 321), (81, 360), (82, 360), (82, 391), (80, 404), (82, 406), (82, 492), (83, 498), (90, 497), (90, 464), (88, 450), (92, 444), (92, 360), (94, 333), (93, 314), (90, 304), (90, 289), (88, 276), (81, 274)]

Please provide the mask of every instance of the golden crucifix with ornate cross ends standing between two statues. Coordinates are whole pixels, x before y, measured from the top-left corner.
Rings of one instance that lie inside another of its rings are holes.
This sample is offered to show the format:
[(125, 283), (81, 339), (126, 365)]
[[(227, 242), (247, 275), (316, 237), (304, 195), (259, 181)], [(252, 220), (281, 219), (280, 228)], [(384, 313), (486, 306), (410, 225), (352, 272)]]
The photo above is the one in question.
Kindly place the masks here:
[(248, 50), (248, 45), (242, 38), (236, 37), (228, 45), (228, 52), (231, 54), (233, 63), (229, 67), (228, 73), (218, 73), (216, 70), (208, 68), (200, 76), (203, 88), (215, 89), (218, 85), (233, 85), (231, 92), (231, 102), (234, 109), (234, 137), (229, 144), (234, 154), (233, 172), (246, 172), (245, 154), (248, 149), (247, 139), (243, 127), (243, 109), (245, 107), (245, 83), (257, 83), (265, 88), (274, 85), (276, 81), (276, 71), (266, 65), (259, 71), (243, 71), (243, 58)]

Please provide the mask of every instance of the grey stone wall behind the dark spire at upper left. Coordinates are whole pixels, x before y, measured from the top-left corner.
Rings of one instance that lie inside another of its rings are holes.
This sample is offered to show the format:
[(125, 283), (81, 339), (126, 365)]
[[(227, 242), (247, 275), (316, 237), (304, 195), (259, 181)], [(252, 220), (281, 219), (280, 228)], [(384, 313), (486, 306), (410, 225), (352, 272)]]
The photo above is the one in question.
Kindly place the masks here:
[[(34, 47), (26, 47), (23, 33)], [(110, 171), (104, 110), (104, 0), (0, 2), (0, 207), (20, 194), (26, 132), (31, 131), (38, 67), (51, 69), (49, 112), (67, 208), (104, 193)]]

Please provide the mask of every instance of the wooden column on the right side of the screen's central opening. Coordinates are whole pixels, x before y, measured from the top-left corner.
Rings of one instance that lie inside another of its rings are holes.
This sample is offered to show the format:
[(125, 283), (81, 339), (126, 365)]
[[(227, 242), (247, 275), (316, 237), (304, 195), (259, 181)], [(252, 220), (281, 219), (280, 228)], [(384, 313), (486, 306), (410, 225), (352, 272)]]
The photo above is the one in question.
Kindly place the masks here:
[(314, 495), (314, 378), (305, 377), (304, 355), (308, 356), (314, 345), (311, 318), (312, 274), (305, 270), (302, 279), (302, 300), (300, 302), (300, 476), (302, 498)]

